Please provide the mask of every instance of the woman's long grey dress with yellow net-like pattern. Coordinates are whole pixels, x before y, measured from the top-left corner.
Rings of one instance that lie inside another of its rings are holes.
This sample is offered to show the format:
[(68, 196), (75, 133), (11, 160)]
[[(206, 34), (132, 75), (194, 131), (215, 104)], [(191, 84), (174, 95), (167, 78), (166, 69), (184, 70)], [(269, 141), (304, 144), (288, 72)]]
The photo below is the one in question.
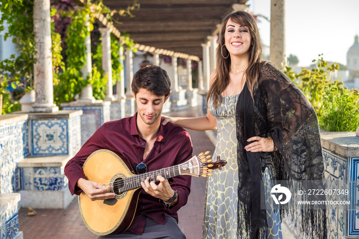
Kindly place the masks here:
[[(221, 96), (222, 104), (217, 109), (212, 101), (209, 102), (209, 110), (217, 121), (216, 147), (213, 160), (220, 155), (227, 165), (222, 170), (214, 170), (213, 176), (208, 177), (206, 200), (204, 207), (204, 224), (202, 238), (237, 238), (237, 208), (238, 208), (238, 164), (237, 164), (237, 137), (235, 125), (235, 108), (238, 96)], [(280, 216), (273, 211), (273, 200), (270, 189), (272, 169), (266, 168), (263, 173), (265, 182), (265, 198), (267, 208), (268, 233), (266, 238), (282, 238)], [(242, 202), (239, 202), (242, 204)], [(240, 207), (242, 208), (242, 207)], [(241, 215), (241, 213), (240, 213)], [(265, 230), (265, 228), (261, 228)], [(241, 235), (249, 238), (250, 235)]]

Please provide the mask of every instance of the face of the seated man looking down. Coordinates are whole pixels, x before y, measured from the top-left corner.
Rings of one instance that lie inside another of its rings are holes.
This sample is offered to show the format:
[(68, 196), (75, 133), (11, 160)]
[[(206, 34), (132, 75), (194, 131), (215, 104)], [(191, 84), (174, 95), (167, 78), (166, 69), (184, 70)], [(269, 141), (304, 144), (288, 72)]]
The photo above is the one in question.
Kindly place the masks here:
[(144, 88), (140, 88), (136, 95), (132, 91), (132, 95), (136, 99), (138, 115), (146, 125), (161, 121), (162, 106), (169, 95), (157, 96)]

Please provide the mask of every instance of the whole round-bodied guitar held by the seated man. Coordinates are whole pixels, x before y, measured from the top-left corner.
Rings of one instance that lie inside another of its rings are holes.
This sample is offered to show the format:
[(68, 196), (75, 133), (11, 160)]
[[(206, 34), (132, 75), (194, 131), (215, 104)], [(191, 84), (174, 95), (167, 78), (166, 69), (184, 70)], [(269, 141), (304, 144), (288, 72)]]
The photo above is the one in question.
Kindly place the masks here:
[(142, 190), (141, 182), (146, 178), (155, 181), (157, 175), (171, 178), (178, 175), (211, 176), (213, 169), (221, 169), (226, 161), (217, 158), (209, 160), (209, 153), (200, 153), (185, 163), (158, 169), (143, 174), (131, 173), (131, 165), (114, 152), (100, 149), (93, 152), (85, 161), (83, 170), (87, 180), (102, 185), (110, 185), (115, 198), (91, 201), (85, 192), (78, 196), (78, 205), (86, 227), (97, 235), (118, 234), (126, 231), (134, 218), (138, 196)]

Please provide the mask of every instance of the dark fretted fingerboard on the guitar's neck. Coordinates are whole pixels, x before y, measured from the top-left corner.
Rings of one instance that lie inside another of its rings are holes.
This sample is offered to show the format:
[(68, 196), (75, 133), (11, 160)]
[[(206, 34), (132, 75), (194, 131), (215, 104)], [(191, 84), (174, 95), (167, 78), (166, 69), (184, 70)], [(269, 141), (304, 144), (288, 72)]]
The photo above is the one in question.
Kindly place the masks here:
[(132, 177), (126, 177), (123, 179), (123, 187), (118, 188), (118, 191), (119, 193), (123, 193), (131, 189), (140, 188), (141, 182), (144, 182), (147, 177), (150, 178), (149, 180), (150, 182), (151, 181), (158, 182), (158, 180), (156, 180), (158, 175), (161, 175), (166, 179), (181, 175), (179, 171), (179, 165), (158, 169), (148, 173), (138, 174)]

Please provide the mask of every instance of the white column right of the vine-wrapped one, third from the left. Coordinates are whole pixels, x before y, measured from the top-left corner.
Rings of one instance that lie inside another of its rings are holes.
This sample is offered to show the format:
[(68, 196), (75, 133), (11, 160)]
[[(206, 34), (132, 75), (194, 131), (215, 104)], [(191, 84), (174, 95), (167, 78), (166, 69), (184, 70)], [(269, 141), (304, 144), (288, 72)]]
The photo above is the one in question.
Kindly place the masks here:
[(98, 29), (101, 32), (102, 37), (102, 69), (104, 70), (105, 75), (107, 75), (107, 89), (105, 101), (113, 101), (113, 91), (112, 91), (112, 63), (111, 63), (111, 31), (105, 27)]

